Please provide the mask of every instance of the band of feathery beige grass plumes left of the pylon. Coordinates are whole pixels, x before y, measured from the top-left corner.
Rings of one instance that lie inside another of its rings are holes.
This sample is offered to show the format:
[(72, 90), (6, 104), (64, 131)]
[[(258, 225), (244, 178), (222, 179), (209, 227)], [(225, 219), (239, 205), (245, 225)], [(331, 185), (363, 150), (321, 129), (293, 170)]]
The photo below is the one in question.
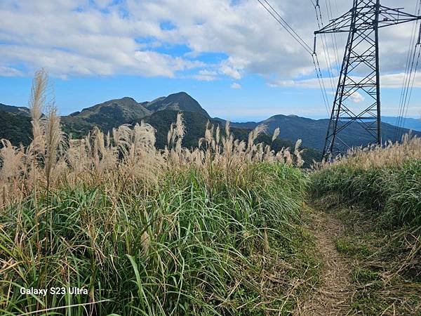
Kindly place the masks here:
[[(234, 139), (228, 121), (225, 133), (220, 131), (220, 126), (208, 124), (198, 148), (183, 148), (185, 126), (181, 113), (175, 124), (171, 124), (165, 150), (156, 149), (156, 131), (143, 122), (119, 126), (107, 134), (94, 129), (88, 136), (74, 140), (62, 133), (57, 108), (50, 100), (50, 86), (46, 72), (36, 72), (29, 100), (32, 143), (27, 147), (13, 147), (8, 140), (1, 140), (0, 207), (19, 201), (39, 187), (49, 190), (64, 183), (76, 185), (93, 178), (97, 182), (114, 183), (113, 178), (119, 176), (154, 184), (160, 174), (185, 166), (195, 166), (203, 173), (211, 172), (212, 166), (219, 166), (229, 177), (233, 169), (243, 169), (255, 162), (297, 166), (304, 163), (300, 140), (293, 153), (289, 148), (276, 153), (270, 145), (256, 143), (256, 138), (266, 130), (264, 125), (251, 131), (248, 141), (244, 142)], [(276, 129), (273, 139), (278, 135), (279, 129)]]

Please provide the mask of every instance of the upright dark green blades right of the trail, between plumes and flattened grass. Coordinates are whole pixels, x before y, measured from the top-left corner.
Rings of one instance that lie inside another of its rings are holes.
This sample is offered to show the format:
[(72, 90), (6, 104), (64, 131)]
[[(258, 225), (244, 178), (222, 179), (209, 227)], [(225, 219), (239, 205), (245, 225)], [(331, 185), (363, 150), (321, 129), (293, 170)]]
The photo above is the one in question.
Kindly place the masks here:
[(361, 169), (330, 166), (313, 176), (316, 195), (339, 193), (349, 203), (377, 211), (389, 227), (421, 227), (421, 160)]

